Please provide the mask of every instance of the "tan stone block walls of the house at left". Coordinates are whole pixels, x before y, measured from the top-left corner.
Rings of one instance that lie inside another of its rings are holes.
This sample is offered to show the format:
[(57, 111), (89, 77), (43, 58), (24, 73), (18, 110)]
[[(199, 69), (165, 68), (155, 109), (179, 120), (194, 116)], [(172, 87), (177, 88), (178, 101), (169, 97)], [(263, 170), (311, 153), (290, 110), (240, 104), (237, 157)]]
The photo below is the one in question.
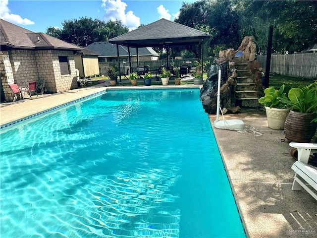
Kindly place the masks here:
[[(38, 79), (45, 80), (49, 93), (77, 88), (74, 53), (53, 50), (1, 51), (1, 83), (6, 101), (12, 101), (13, 93), (8, 84), (24, 87)], [(61, 75), (58, 56), (67, 56), (70, 74)]]

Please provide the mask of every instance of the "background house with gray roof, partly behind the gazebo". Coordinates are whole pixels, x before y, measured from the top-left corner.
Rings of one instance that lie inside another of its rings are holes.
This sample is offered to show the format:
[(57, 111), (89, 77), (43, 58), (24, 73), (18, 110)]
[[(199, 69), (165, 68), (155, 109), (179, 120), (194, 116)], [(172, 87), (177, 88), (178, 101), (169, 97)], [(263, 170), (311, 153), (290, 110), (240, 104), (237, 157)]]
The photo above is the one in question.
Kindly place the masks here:
[[(111, 62), (117, 61), (117, 49), (115, 44), (110, 44), (109, 42), (94, 42), (85, 47), (85, 49), (98, 52), (99, 62)], [(120, 62), (128, 62), (128, 48), (125, 46), (119, 46), (119, 56)], [(139, 60), (159, 60), (159, 54), (156, 53), (151, 47), (143, 47), (138, 49)], [(136, 48), (130, 48), (131, 61), (137, 61), (137, 52)]]

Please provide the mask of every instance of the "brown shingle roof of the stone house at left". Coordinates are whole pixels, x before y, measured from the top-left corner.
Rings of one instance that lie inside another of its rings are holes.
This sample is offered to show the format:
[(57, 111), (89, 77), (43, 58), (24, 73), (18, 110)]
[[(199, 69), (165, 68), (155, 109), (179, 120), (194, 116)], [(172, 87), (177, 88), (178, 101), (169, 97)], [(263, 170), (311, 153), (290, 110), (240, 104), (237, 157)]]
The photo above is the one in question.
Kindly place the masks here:
[(80, 47), (59, 40), (44, 33), (34, 33), (25, 28), (0, 19), (0, 45), (9, 49), (33, 50), (81, 50)]

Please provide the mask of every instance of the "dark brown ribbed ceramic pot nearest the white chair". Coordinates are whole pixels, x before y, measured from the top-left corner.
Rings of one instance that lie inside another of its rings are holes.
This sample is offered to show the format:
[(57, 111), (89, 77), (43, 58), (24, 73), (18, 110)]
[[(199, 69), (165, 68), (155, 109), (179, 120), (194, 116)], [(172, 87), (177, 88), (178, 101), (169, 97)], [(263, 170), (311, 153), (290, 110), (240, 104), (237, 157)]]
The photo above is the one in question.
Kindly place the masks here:
[(311, 142), (317, 126), (316, 122), (311, 122), (315, 117), (315, 113), (290, 111), (285, 120), (285, 137), (293, 142)]

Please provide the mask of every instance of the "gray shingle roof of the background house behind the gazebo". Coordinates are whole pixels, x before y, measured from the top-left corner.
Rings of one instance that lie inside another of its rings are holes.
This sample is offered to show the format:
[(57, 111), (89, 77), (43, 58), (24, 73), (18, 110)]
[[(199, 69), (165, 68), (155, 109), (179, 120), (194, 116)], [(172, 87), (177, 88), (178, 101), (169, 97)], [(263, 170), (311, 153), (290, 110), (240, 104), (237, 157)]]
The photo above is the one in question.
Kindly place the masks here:
[[(92, 50), (98, 52), (102, 57), (116, 57), (117, 56), (117, 48), (115, 44), (110, 44), (109, 42), (101, 41), (94, 42), (84, 49)], [(159, 56), (152, 48), (143, 47), (138, 49), (139, 56)], [(136, 49), (130, 48), (130, 54), (132, 56), (136, 56)], [(125, 46), (119, 46), (119, 55), (128, 56), (128, 48)]]

